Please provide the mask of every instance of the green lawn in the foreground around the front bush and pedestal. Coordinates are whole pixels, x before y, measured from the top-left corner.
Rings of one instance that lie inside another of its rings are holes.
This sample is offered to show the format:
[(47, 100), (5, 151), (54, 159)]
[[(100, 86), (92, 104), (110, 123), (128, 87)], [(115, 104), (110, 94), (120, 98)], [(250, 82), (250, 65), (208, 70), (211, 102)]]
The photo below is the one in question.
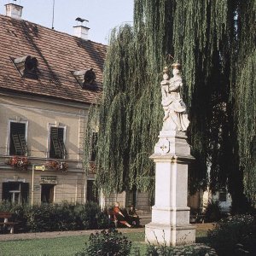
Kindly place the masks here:
[[(124, 235), (132, 241), (132, 247), (139, 247), (141, 255), (145, 255), (144, 233), (126, 233)], [(196, 240), (202, 242), (206, 238), (205, 236), (206, 232), (201, 231), (196, 234)], [(68, 236), (50, 239), (0, 241), (0, 256), (74, 255), (83, 249), (84, 242), (88, 239), (89, 236)]]

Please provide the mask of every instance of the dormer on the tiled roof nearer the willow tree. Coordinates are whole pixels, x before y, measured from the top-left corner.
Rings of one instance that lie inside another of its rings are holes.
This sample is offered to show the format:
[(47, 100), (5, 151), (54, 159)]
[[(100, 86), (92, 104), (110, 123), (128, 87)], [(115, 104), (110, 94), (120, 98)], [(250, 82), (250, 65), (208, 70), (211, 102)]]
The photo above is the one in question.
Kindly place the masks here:
[(99, 86), (96, 84), (96, 74), (93, 71), (93, 68), (74, 71), (73, 76), (83, 89), (99, 90)]

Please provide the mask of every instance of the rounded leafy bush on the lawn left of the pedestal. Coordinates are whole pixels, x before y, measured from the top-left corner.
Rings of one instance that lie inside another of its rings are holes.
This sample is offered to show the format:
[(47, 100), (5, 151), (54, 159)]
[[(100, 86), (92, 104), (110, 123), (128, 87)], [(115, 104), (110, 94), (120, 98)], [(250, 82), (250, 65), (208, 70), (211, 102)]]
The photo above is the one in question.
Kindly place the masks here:
[(102, 230), (101, 233), (91, 234), (89, 244), (85, 244), (83, 252), (76, 256), (128, 256), (131, 253), (131, 241), (118, 230)]

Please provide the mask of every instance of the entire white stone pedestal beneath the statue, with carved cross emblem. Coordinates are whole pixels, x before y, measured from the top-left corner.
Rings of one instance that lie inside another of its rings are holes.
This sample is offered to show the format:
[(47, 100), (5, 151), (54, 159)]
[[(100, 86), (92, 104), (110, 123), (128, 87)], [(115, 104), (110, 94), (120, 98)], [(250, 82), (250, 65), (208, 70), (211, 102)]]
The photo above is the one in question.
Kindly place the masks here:
[(145, 240), (176, 246), (195, 242), (195, 227), (189, 224), (188, 165), (194, 158), (182, 131), (160, 131), (160, 140), (150, 156), (155, 162), (155, 205)]

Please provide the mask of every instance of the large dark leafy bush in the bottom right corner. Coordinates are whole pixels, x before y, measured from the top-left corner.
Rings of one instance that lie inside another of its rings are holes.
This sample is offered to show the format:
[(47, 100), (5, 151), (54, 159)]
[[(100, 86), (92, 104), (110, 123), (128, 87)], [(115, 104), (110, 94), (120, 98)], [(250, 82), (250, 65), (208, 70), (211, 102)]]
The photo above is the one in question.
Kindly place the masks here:
[(208, 231), (218, 255), (256, 255), (256, 222), (252, 215), (224, 218)]

